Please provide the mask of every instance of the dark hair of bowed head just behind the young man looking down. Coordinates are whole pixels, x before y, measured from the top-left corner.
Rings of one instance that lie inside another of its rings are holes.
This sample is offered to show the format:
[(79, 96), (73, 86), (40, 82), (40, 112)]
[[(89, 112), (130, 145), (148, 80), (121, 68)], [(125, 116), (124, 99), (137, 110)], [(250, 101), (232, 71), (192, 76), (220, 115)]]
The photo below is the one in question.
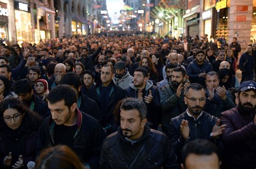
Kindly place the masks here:
[(75, 72), (68, 72), (62, 76), (60, 84), (73, 85), (78, 90), (81, 86), (81, 79)]

